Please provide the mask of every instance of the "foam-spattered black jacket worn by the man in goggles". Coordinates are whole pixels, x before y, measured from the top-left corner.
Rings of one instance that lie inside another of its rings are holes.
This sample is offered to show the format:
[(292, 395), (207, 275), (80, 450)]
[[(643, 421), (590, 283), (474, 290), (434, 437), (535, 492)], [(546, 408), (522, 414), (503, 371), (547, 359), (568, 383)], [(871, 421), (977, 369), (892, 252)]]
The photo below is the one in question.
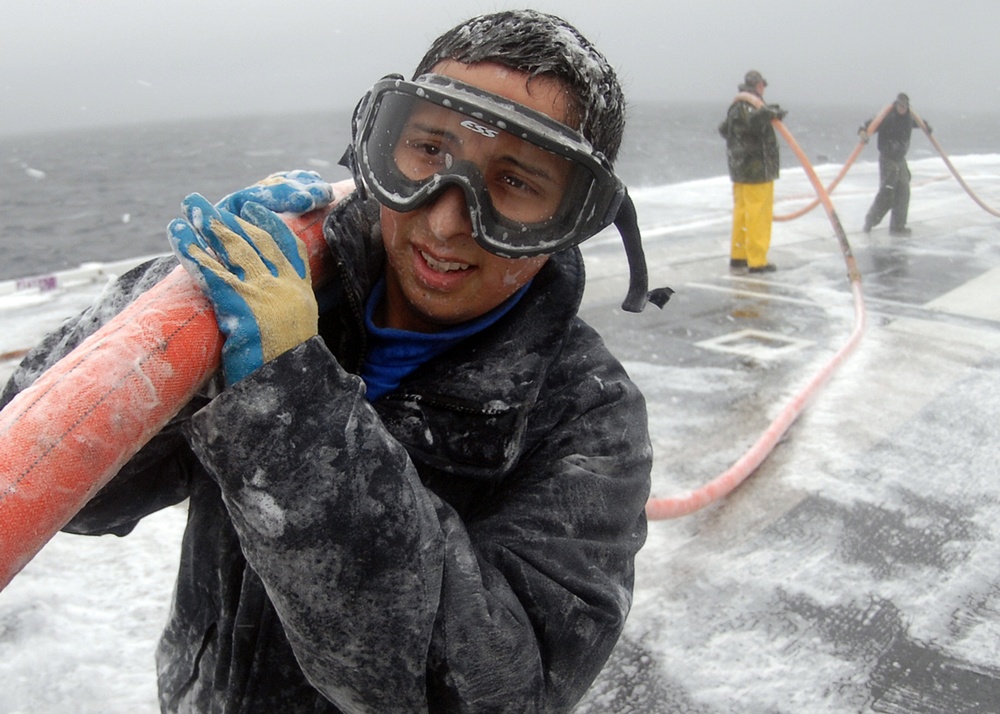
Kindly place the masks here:
[[(619, 637), (651, 450), (642, 396), (576, 317), (579, 251), (372, 405), (377, 216), (349, 199), (327, 222), (321, 337), (196, 399), (67, 527), (124, 535), (190, 499), (165, 711), (567, 711)], [(174, 264), (123, 276), (0, 404)]]

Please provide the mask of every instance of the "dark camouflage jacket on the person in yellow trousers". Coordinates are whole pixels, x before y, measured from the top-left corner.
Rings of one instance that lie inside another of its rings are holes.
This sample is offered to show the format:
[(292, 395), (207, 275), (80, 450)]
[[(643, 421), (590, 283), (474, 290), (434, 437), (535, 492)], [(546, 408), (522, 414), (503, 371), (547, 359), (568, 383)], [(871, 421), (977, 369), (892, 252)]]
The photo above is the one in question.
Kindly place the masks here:
[(719, 134), (726, 140), (729, 178), (734, 183), (769, 183), (778, 178), (778, 137), (767, 105), (754, 107), (745, 100), (729, 106)]

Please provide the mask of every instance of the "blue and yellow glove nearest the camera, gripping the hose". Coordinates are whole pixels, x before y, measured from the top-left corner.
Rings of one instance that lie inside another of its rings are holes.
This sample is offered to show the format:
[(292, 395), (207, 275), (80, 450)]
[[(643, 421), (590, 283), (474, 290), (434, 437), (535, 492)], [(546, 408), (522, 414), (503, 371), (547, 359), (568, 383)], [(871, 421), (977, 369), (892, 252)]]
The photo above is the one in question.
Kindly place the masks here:
[(227, 384), (317, 334), (306, 249), (284, 221), (253, 202), (237, 217), (196, 193), (182, 206), (187, 220), (167, 238), (215, 309)]

